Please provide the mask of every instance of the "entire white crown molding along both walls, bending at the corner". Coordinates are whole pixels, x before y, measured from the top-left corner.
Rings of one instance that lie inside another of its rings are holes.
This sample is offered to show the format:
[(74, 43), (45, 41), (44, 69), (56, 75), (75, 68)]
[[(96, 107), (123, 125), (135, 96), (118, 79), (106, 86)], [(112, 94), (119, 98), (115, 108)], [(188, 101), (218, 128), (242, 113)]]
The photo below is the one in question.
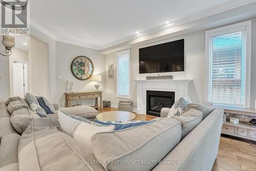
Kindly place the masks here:
[(91, 48), (91, 49), (95, 49), (95, 50), (102, 50), (102, 49), (110, 48), (110, 47), (118, 45), (118, 44), (122, 44), (123, 42), (126, 42), (126, 41), (137, 39), (139, 37), (143, 37), (143, 36), (146, 36), (146, 35), (149, 35), (149, 34), (157, 33), (157, 32), (163, 31), (163, 30), (172, 29), (172, 28), (175, 28), (175, 27), (180, 26), (180, 25), (184, 25), (184, 24), (187, 24), (187, 23), (190, 23), (190, 22), (194, 22), (195, 20), (202, 19), (202, 18), (207, 17), (207, 16), (215, 15), (215, 14), (218, 14), (218, 13), (221, 13), (221, 12), (224, 12), (224, 11), (228, 11), (228, 10), (231, 10), (231, 9), (234, 9), (234, 8), (238, 8), (238, 7), (241, 7), (241, 6), (244, 6), (244, 5), (248, 5), (248, 4), (254, 3), (254, 2), (256, 2), (256, 0), (244, 0), (244, 1), (241, 0), (237, 4), (228, 4), (226, 6), (222, 6), (221, 8), (218, 8), (218, 9), (207, 10), (207, 11), (198, 13), (196, 15), (192, 15), (192, 16), (185, 17), (185, 18), (182, 18), (180, 20), (177, 20), (175, 22), (171, 22), (170, 24), (172, 24), (172, 25), (162, 25), (162, 26), (150, 29), (150, 30), (143, 31), (140, 34), (136, 34), (136, 35), (133, 35), (133, 36), (130, 36), (130, 37), (125, 37), (125, 38), (119, 39), (117, 41), (111, 42), (109, 44), (106, 44), (106, 45), (100, 46), (100, 47), (91, 46), (89, 44), (86, 44), (85, 42), (76, 41), (74, 39), (66, 38), (65, 36), (57, 37), (56, 35), (49, 32), (47, 29), (45, 29), (44, 27), (42, 27), (41, 25), (36, 23), (31, 18), (29, 19), (29, 24), (31, 26), (33, 26), (35, 29), (39, 30), (40, 32), (42, 32), (42, 33), (46, 34), (47, 36), (51, 37), (55, 41), (65, 42), (67, 44), (77, 45), (77, 46)]

